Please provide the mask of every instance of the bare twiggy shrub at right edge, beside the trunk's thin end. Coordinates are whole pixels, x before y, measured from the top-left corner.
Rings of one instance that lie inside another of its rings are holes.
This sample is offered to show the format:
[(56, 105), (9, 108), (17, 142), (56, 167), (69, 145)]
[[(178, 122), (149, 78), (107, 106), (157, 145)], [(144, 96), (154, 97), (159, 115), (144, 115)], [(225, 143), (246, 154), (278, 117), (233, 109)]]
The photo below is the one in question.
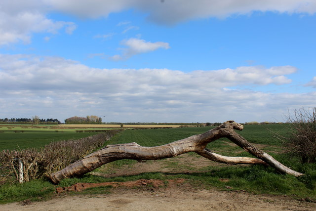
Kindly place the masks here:
[(301, 108), (288, 114), (289, 135), (285, 139), (287, 153), (298, 156), (302, 163), (316, 162), (316, 107)]

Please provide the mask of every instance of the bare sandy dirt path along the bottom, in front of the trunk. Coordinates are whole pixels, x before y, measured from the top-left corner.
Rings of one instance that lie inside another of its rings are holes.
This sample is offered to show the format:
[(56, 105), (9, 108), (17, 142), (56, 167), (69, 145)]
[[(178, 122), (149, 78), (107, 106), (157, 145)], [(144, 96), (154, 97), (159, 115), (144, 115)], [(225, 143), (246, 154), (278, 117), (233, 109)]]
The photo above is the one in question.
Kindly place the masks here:
[(155, 189), (113, 188), (111, 194), (56, 197), (45, 202), (0, 205), (1, 211), (315, 211), (316, 204), (289, 197), (246, 192), (196, 190), (190, 187)]

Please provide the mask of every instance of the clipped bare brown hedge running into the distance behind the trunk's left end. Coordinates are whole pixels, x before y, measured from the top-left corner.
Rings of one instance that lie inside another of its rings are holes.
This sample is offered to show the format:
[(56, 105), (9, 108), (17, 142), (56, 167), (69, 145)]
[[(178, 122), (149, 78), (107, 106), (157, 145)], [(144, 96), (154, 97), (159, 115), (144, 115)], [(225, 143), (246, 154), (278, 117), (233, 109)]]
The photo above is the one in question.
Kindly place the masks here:
[(107, 130), (77, 140), (52, 142), (40, 149), (3, 150), (0, 152), (0, 184), (12, 181), (12, 176), (13, 181), (19, 179), (19, 159), (23, 163), (24, 181), (42, 178), (78, 161), (120, 131)]

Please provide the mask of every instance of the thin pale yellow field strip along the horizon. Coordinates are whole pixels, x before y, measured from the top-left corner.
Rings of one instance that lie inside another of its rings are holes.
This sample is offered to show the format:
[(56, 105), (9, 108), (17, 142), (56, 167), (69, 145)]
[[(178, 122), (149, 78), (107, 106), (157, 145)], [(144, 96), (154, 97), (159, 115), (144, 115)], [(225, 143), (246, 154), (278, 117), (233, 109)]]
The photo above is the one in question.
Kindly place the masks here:
[[(128, 127), (180, 127), (181, 125), (123, 125), (123, 128)], [(72, 124), (61, 124), (57, 127), (89, 127), (89, 128), (109, 128), (109, 127), (120, 127), (120, 125), (72, 125)], [(188, 127), (196, 127), (196, 126), (188, 126)]]

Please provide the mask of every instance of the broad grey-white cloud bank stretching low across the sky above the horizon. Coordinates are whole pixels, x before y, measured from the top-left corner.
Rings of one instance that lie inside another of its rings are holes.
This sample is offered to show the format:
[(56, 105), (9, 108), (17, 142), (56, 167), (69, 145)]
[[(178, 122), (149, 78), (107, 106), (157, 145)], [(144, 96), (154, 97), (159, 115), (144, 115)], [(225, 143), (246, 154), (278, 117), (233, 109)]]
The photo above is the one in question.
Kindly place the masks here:
[(0, 116), (50, 115), (64, 120), (95, 114), (110, 118), (107, 122), (282, 121), (287, 108), (313, 106), (316, 92), (274, 94), (229, 87), (284, 84), (289, 82), (285, 75), (295, 71), (291, 66), (189, 73), (97, 69), (60, 57), (0, 55)]

